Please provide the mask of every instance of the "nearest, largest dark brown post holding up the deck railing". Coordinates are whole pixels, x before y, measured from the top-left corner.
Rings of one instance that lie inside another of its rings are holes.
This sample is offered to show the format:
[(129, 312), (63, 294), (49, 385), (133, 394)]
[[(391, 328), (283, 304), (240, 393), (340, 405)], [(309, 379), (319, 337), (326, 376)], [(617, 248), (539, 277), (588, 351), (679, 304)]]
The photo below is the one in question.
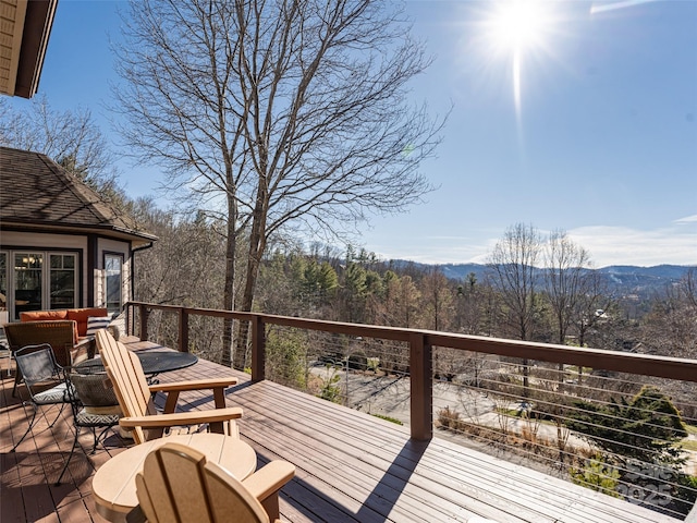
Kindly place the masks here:
[(412, 381), (412, 438), (430, 440), (433, 437), (433, 381), (431, 345), (418, 332), (409, 335), (409, 375)]

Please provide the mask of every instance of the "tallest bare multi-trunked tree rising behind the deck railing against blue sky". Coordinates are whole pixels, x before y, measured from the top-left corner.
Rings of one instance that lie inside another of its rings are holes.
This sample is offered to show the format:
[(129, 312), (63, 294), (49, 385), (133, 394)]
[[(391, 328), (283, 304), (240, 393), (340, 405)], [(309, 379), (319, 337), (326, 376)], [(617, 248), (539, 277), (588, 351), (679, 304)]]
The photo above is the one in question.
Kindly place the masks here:
[[(225, 308), (248, 227), (237, 308), (252, 309), (261, 256), (283, 229), (332, 235), (430, 188), (418, 172), (440, 123), (412, 108), (429, 64), (392, 4), (370, 0), (131, 2), (114, 92), (139, 158), (228, 223)], [(229, 337), (232, 350), (231, 332)], [(246, 331), (235, 367), (244, 364)], [(223, 356), (229, 360), (230, 354)]]

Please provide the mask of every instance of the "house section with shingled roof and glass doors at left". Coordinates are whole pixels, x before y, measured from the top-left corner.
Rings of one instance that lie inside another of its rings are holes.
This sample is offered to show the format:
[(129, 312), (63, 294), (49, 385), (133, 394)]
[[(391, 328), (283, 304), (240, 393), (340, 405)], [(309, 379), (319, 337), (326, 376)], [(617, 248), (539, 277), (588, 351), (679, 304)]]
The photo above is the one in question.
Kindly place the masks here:
[(155, 240), (47, 156), (0, 147), (0, 323), (23, 311), (121, 312), (134, 253)]

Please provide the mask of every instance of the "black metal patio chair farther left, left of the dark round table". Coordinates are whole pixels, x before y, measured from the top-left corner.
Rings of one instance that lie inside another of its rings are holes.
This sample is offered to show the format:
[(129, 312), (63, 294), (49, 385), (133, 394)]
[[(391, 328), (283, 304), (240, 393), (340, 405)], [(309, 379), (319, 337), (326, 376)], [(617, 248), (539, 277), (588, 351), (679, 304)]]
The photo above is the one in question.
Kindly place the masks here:
[[(40, 345), (23, 346), (14, 353), (14, 360), (17, 370), (21, 372), (24, 377), (24, 385), (29, 394), (29, 399), (25, 400), (24, 404), (30, 404), (34, 412), (29, 421), (29, 426), (20, 440), (14, 443), (10, 452), (14, 452), (24, 438), (26, 438), (27, 434), (29, 434), (36, 421), (36, 413), (40, 406), (61, 405), (56, 419), (49, 424), (49, 427), (52, 427), (56, 425), (65, 405), (70, 403), (63, 367), (56, 362), (51, 345), (42, 343)], [(44, 413), (44, 417), (46, 417), (46, 413)], [(46, 418), (46, 421), (48, 422), (48, 418)]]

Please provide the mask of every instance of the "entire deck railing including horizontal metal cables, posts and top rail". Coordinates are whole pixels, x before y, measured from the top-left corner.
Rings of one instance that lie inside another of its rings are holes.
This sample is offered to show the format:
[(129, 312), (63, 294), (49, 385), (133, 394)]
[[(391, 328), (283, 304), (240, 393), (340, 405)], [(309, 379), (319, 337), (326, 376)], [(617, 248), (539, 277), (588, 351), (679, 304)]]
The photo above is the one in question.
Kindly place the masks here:
[(185, 332), (183, 344), (212, 361), (224, 318), (252, 319), (253, 379), (407, 425), (418, 439), (433, 430), (676, 518), (697, 498), (695, 361), (149, 304), (140, 315), (145, 307), (146, 335), (178, 346)]

